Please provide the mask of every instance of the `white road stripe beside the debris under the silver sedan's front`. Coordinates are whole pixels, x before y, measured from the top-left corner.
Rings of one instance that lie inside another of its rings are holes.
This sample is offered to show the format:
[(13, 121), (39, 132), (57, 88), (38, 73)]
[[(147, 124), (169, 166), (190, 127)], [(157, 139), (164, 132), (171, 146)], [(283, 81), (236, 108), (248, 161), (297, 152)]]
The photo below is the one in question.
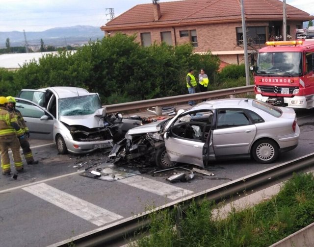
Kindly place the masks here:
[(188, 194), (193, 193), (193, 191), (184, 190), (182, 188), (158, 182), (139, 175), (123, 178), (117, 181), (144, 191), (157, 194), (159, 196), (170, 198), (172, 200), (182, 198)]

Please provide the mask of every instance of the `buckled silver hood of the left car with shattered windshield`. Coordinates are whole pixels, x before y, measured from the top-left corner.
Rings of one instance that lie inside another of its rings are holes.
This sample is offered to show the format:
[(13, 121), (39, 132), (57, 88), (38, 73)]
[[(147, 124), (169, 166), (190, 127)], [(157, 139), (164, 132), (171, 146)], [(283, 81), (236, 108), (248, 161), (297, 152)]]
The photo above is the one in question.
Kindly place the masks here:
[(94, 114), (83, 116), (60, 116), (59, 120), (68, 125), (83, 125), (88, 128), (104, 127), (104, 120)]

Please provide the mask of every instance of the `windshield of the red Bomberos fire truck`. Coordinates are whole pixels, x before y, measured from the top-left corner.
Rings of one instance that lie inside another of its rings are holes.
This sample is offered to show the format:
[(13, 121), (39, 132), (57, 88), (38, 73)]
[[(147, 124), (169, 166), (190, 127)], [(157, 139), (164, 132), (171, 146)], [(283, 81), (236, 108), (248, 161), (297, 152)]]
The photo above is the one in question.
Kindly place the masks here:
[(302, 52), (261, 52), (256, 74), (290, 76), (302, 73)]

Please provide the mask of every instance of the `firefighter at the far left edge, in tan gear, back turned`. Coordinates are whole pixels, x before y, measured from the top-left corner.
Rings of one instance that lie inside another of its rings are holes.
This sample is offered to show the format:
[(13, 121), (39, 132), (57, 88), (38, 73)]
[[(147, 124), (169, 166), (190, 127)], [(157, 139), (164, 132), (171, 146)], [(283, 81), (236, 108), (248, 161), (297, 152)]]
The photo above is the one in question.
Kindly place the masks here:
[(18, 138), (24, 138), (24, 133), (14, 114), (7, 111), (7, 103), (8, 100), (5, 97), (0, 97), (0, 154), (3, 175), (11, 174), (9, 148), (12, 150), (15, 170), (17, 172), (24, 170), (18, 140)]

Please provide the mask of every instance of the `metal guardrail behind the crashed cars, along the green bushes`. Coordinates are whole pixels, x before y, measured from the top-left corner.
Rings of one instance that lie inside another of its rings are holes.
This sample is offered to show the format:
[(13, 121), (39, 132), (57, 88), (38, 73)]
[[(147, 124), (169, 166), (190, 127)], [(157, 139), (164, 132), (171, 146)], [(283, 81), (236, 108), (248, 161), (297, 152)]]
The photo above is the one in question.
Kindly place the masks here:
[(196, 94), (186, 94), (186, 95), (177, 95), (172, 97), (165, 97), (165, 98), (157, 98), (157, 99), (147, 99), (147, 100), (140, 100), (140, 101), (133, 101), (128, 103), (120, 103), (120, 104), (111, 104), (105, 105), (107, 113), (113, 112), (123, 112), (128, 110), (136, 110), (139, 108), (147, 108), (151, 106), (162, 106), (162, 105), (169, 105), (181, 102), (187, 102), (189, 100), (198, 100), (198, 99), (208, 99), (208, 98), (217, 98), (235, 94), (243, 94), (249, 93), (254, 91), (254, 85), (244, 86), (244, 87), (236, 87), (236, 88), (228, 88), (228, 89), (221, 89), (215, 91), (208, 91), (203, 93), (196, 93)]

